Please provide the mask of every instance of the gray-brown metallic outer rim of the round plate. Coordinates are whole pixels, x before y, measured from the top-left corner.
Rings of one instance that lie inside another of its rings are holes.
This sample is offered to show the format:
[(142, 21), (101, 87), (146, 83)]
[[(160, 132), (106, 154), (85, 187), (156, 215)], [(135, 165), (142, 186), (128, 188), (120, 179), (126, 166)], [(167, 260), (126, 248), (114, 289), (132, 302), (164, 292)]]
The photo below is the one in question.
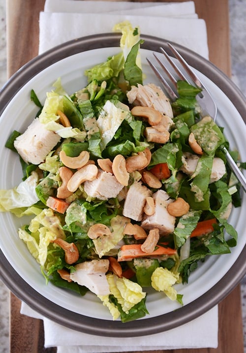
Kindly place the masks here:
[[(51, 64), (77, 53), (92, 49), (118, 47), (120, 34), (103, 33), (78, 38), (55, 47), (32, 59), (18, 70), (0, 91), (0, 115), (11, 101), (12, 97), (37, 73)], [(162, 46), (171, 56), (165, 39), (149, 35), (141, 35), (144, 39), (143, 49), (159, 51)], [(187, 62), (205, 74), (233, 102), (240, 115), (246, 120), (246, 98), (233, 82), (215, 65), (181, 45), (173, 43)], [(246, 274), (246, 246), (230, 270), (202, 296), (180, 309), (154, 318), (142, 319), (129, 323), (94, 319), (74, 313), (56, 305), (54, 302), (36, 292), (14, 270), (0, 250), (0, 278), (22, 301), (44, 317), (65, 327), (98, 336), (134, 337), (166, 331), (185, 324), (219, 303), (241, 281)]]

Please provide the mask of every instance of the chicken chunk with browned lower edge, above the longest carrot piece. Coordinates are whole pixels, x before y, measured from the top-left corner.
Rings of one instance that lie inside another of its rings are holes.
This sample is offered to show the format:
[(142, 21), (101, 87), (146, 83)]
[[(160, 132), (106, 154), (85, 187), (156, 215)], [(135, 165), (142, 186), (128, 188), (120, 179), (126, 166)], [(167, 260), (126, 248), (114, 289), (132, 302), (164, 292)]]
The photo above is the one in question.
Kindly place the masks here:
[(154, 214), (151, 216), (145, 215), (141, 226), (145, 230), (157, 228), (160, 235), (173, 233), (176, 217), (171, 216), (167, 211), (167, 205), (173, 202), (173, 200), (163, 190), (158, 190), (154, 193), (153, 199), (155, 202)]

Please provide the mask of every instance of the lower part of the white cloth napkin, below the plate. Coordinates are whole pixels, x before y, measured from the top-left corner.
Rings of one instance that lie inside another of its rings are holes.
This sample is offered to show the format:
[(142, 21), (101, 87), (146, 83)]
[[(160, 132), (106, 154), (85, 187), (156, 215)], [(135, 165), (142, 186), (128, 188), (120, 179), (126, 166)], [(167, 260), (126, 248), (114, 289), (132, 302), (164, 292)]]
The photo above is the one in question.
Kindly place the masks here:
[(217, 347), (217, 306), (178, 328), (154, 335), (130, 338), (101, 337), (81, 333), (43, 318), (25, 303), (22, 303), (21, 313), (43, 319), (45, 347), (57, 347), (57, 353), (109, 353)]

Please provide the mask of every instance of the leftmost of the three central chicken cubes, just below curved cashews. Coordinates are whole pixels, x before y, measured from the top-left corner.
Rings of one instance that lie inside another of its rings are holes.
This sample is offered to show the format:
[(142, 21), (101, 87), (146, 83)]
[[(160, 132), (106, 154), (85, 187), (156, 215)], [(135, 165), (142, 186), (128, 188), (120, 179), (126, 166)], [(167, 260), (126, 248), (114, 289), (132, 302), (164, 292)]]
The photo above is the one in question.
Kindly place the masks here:
[(116, 197), (123, 189), (123, 185), (117, 181), (116, 177), (101, 169), (98, 170), (96, 178), (92, 181), (85, 181), (84, 190), (88, 196), (99, 200), (108, 200)]

